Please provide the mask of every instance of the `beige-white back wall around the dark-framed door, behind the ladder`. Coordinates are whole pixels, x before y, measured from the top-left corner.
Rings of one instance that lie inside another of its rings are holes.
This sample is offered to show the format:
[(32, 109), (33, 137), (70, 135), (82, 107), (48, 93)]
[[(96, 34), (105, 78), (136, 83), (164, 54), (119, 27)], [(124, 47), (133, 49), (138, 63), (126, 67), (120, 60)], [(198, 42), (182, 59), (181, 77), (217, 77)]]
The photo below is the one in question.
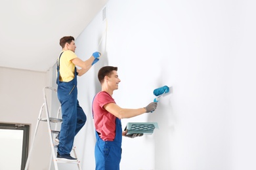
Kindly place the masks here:
[[(39, 110), (43, 105), (43, 88), (52, 84), (51, 77), (49, 72), (0, 67), (0, 122), (30, 125), (30, 147)], [(47, 124), (41, 122), (33, 146), (30, 169), (49, 167), (51, 148), (47, 134)], [(9, 163), (13, 163), (12, 160)]]

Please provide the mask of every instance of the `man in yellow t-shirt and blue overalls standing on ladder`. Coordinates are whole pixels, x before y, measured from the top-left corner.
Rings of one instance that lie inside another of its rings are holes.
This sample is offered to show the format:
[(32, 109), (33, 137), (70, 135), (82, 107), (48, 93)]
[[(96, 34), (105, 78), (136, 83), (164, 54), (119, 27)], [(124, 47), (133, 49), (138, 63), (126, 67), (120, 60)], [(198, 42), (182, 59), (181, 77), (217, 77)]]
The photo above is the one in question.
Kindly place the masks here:
[[(87, 120), (85, 112), (77, 100), (77, 75), (82, 76), (98, 61), (100, 52), (83, 61), (75, 55), (75, 39), (72, 36), (60, 39), (62, 52), (57, 61), (58, 99), (62, 109), (62, 125), (55, 141), (59, 142), (57, 159), (64, 161), (77, 161), (70, 156), (75, 135), (85, 125)], [(81, 67), (77, 69), (75, 65)]]

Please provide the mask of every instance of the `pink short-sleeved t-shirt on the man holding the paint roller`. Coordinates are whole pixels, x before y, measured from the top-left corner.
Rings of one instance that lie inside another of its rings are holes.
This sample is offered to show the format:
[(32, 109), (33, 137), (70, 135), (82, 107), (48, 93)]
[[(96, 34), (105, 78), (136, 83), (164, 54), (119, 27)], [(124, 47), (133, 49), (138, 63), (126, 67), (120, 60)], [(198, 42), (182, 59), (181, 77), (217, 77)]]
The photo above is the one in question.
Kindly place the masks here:
[(114, 141), (116, 137), (116, 116), (104, 109), (104, 105), (116, 103), (107, 92), (98, 92), (93, 101), (95, 129), (103, 141)]

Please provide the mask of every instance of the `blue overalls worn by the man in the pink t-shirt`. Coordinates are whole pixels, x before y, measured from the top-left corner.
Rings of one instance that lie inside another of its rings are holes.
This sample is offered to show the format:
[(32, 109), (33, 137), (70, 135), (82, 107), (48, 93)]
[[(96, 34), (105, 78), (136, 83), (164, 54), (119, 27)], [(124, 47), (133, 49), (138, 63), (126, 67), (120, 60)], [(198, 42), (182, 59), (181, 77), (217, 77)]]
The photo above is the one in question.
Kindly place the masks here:
[(97, 131), (95, 131), (95, 134), (96, 170), (119, 170), (122, 142), (121, 120), (116, 118), (116, 137), (114, 141), (103, 141)]

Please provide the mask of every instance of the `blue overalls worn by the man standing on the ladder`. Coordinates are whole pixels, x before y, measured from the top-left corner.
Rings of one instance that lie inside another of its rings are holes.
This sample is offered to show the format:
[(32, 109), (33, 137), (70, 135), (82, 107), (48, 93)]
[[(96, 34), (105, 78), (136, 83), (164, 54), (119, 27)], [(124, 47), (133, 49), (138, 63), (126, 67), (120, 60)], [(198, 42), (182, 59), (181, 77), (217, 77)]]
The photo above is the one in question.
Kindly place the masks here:
[[(63, 52), (62, 52), (63, 53)], [(62, 55), (60, 54), (60, 56)], [(58, 100), (62, 110), (62, 124), (58, 144), (58, 154), (70, 155), (75, 135), (85, 125), (87, 120), (85, 112), (77, 100), (77, 72), (75, 67), (74, 78), (70, 82), (60, 81), (60, 57), (57, 64)]]

